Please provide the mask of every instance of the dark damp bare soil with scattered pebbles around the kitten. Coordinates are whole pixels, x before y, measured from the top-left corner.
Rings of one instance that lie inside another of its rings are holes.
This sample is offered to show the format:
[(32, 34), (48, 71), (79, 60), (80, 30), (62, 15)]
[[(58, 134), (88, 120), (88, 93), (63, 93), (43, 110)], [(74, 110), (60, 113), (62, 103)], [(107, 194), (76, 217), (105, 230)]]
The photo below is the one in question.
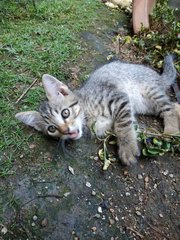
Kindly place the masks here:
[[(91, 49), (85, 59), (91, 71), (107, 62), (117, 28), (102, 25), (82, 33)], [(29, 148), (10, 183), (0, 182), (0, 239), (179, 239), (179, 156), (141, 157), (131, 167), (117, 161), (103, 171), (99, 143), (90, 136), (68, 143), (67, 152), (43, 136)]]

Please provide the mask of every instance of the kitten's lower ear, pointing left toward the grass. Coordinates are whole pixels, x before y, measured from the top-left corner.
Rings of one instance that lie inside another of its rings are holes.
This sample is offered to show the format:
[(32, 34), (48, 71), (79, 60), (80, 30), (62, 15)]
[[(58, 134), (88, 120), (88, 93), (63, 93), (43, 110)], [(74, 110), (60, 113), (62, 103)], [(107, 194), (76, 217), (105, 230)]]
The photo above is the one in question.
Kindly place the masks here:
[(43, 131), (44, 120), (41, 117), (39, 112), (36, 111), (28, 111), (28, 112), (20, 112), (15, 115), (15, 117), (25, 123), (28, 126), (35, 128), (38, 131)]

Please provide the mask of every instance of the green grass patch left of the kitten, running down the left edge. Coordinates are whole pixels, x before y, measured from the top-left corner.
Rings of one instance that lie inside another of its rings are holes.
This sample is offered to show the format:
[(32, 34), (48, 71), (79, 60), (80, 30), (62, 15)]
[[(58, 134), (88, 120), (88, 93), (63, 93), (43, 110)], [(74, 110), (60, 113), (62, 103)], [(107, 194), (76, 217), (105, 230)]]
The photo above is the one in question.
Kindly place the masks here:
[[(90, 47), (83, 42), (81, 34), (93, 31), (95, 26), (102, 28), (102, 23), (103, 27), (113, 25), (114, 22), (109, 19), (115, 16), (117, 19), (117, 11), (110, 11), (98, 0), (81, 3), (79, 0), (35, 0), (35, 6), (33, 1), (27, 0), (0, 1), (1, 222), (6, 221), (12, 203), (18, 201), (13, 196), (16, 181), (26, 175), (30, 178), (43, 175), (46, 178), (48, 174), (57, 174), (54, 163), (44, 159), (41, 154), (41, 151), (49, 151), (48, 140), (19, 123), (15, 114), (38, 108), (44, 99), (41, 86), (44, 73), (70, 82), (69, 69), (78, 65), (80, 80), (83, 80), (89, 67), (83, 59), (87, 55), (90, 58)], [(37, 83), (16, 104), (16, 100), (35, 79)], [(31, 148), (32, 144), (35, 144), (35, 149)], [(13, 209), (14, 212), (18, 211), (18, 203), (13, 205)], [(18, 224), (16, 226), (12, 221), (11, 230), (22, 235), (18, 229)], [(9, 239), (7, 234), (3, 237)]]

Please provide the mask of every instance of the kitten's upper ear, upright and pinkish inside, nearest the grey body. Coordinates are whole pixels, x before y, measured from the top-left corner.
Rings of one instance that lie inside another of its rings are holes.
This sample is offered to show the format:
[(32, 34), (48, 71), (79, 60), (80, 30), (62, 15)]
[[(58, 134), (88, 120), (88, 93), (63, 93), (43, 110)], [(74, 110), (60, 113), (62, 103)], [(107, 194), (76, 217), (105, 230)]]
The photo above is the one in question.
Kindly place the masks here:
[(48, 100), (64, 98), (71, 92), (68, 86), (49, 74), (44, 74), (42, 81)]

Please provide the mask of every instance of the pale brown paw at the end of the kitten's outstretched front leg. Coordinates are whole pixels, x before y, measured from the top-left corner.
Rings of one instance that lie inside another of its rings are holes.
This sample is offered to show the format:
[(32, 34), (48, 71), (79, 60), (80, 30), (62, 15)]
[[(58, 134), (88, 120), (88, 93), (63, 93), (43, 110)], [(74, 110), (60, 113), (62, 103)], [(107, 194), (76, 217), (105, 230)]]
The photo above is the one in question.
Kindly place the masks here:
[(119, 144), (119, 158), (121, 162), (127, 166), (137, 162), (136, 157), (140, 156), (140, 151), (137, 143), (127, 143), (126, 145)]

